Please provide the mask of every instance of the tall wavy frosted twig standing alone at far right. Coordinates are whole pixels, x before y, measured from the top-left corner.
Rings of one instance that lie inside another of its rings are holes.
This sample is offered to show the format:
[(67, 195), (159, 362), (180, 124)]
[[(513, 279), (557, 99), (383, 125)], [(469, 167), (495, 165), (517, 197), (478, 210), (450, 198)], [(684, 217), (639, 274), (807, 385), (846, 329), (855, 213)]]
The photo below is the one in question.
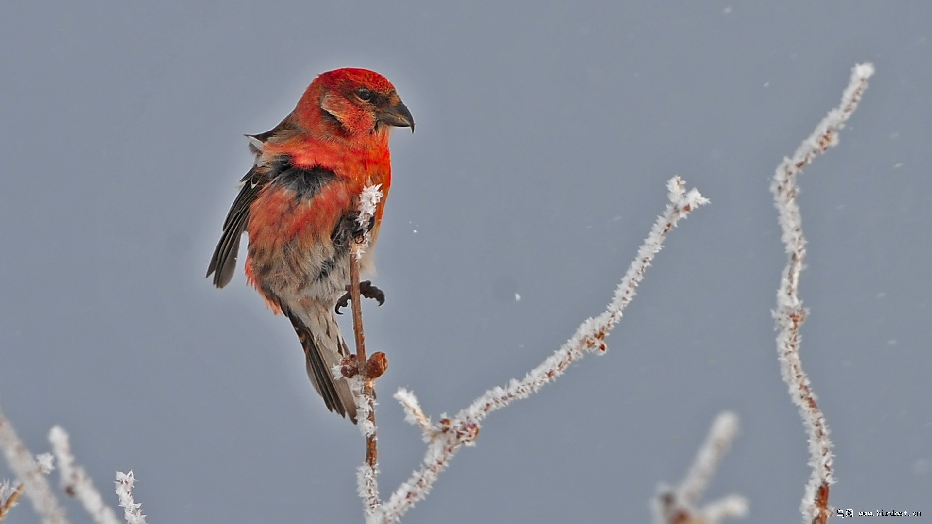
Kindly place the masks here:
[(802, 422), (809, 435), (809, 462), (813, 472), (802, 496), (801, 511), (804, 521), (814, 524), (824, 524), (829, 519), (829, 485), (834, 482), (833, 457), (829, 427), (816, 404), (816, 393), (813, 393), (800, 360), (800, 325), (805, 319), (806, 309), (802, 307), (799, 297), (799, 283), (806, 241), (802, 236), (800, 205), (796, 201), (800, 192), (797, 175), (817, 155), (838, 144), (838, 131), (857, 109), (857, 103), (867, 89), (868, 78), (873, 72), (870, 63), (860, 63), (854, 67), (848, 87), (842, 94), (842, 103), (818, 123), (816, 131), (802, 141), (792, 158), (783, 159), (776, 168), (770, 186), (788, 255), (787, 267), (783, 270), (780, 287), (776, 292), (776, 351), (780, 360), (780, 374), (788, 385), (790, 397), (800, 408)]

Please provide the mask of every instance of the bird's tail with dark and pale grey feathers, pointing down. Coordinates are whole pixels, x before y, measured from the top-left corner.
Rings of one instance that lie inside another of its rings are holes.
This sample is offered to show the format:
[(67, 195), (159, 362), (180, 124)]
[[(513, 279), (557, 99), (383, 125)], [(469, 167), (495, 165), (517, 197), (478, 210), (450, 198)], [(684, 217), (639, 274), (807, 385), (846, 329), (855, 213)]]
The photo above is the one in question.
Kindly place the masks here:
[(295, 326), (298, 340), (307, 358), (308, 378), (317, 393), (323, 397), (327, 409), (336, 410), (341, 416), (349, 415), (356, 423), (356, 401), (349, 391), (346, 379), (335, 379), (333, 368), (343, 356), (349, 354), (346, 341), (340, 335), (336, 318), (331, 308), (314, 302), (308, 310), (298, 315), (296, 311), (285, 311)]

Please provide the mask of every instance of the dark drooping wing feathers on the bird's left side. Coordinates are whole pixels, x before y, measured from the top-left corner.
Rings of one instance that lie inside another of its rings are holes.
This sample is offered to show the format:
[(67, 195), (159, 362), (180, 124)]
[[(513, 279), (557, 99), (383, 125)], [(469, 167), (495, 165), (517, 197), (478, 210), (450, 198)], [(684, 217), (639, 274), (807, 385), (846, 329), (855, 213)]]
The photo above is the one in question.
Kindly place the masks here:
[(223, 287), (233, 278), (236, 271), (236, 259), (240, 252), (240, 238), (249, 220), (249, 208), (253, 205), (255, 197), (271, 181), (268, 169), (253, 166), (240, 180), (240, 194), (224, 221), (224, 232), (213, 250), (211, 265), (207, 268), (207, 276), (213, 273), (213, 285)]

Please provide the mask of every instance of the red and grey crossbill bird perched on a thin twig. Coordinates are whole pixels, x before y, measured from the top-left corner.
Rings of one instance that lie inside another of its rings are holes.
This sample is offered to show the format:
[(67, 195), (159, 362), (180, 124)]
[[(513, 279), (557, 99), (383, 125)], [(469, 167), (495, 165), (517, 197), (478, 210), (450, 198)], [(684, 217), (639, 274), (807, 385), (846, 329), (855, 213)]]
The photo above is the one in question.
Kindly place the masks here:
[[(373, 243), (378, 236), (385, 199), (368, 224), (358, 223), (357, 207), (366, 186), (380, 184), (388, 195), (392, 127), (413, 132), (414, 118), (384, 76), (346, 68), (315, 78), (279, 125), (247, 135), (255, 165), (240, 181), (207, 269), (217, 287), (229, 283), (240, 237), (248, 234), (248, 283), (295, 326), (308, 377), (327, 408), (353, 422), (349, 385), (332, 372), (349, 354), (334, 313), (348, 292), (349, 242), (368, 229)], [(371, 253), (370, 246), (363, 269)], [(384, 300), (375, 286), (361, 288)]]

